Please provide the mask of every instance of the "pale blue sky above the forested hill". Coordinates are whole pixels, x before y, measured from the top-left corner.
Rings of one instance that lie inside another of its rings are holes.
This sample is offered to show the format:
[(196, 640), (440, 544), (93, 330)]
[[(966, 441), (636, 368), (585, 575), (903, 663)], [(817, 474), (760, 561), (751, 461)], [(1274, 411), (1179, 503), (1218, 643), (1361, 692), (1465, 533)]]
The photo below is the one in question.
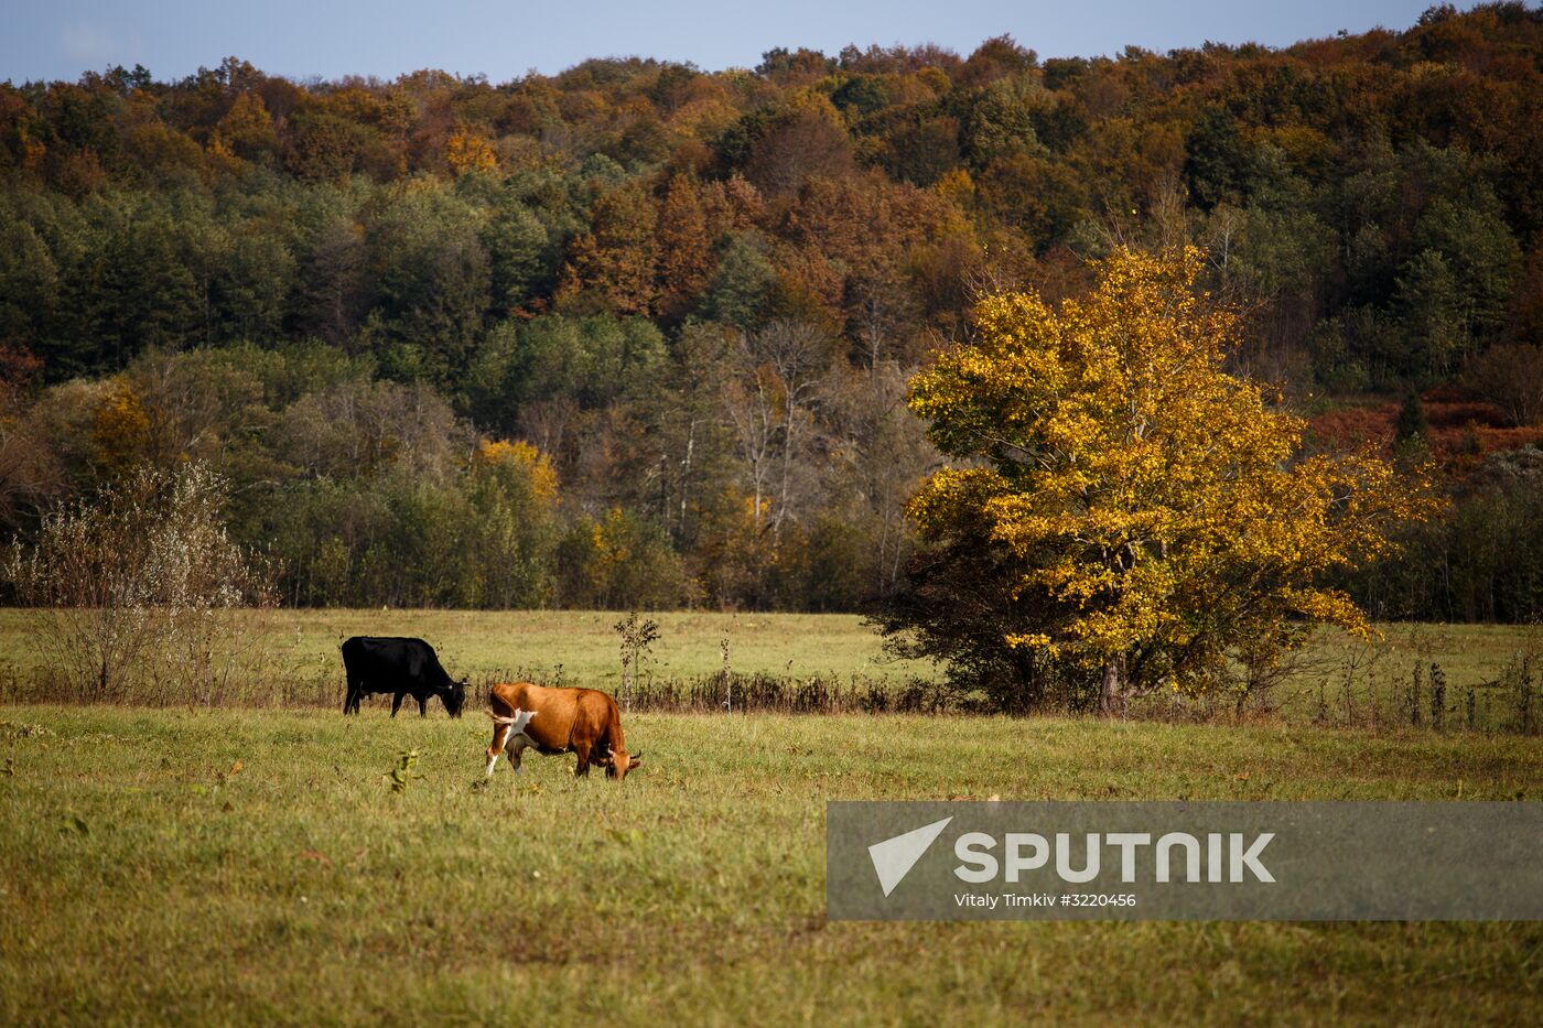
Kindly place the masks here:
[[(8, 0), (0, 80), (77, 79), (142, 63), (157, 79), (214, 66), (227, 56), (292, 77), (418, 68), (503, 82), (555, 73), (585, 57), (637, 54), (705, 69), (755, 66), (773, 46), (835, 54), (847, 43), (938, 43), (969, 54), (1011, 32), (1040, 57), (1113, 54), (1128, 43), (1167, 51), (1407, 28), (1430, 0)], [(1467, 6), (1467, 5), (1463, 5)]]

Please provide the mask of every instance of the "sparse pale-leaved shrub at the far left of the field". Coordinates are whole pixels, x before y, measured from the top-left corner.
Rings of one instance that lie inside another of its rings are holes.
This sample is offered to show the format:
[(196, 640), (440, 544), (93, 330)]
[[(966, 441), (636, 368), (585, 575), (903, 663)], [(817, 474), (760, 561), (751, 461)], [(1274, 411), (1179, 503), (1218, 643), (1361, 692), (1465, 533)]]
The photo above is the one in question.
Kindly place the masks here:
[(68, 696), (219, 704), (255, 678), (267, 633), (235, 617), (273, 607), (273, 574), (230, 540), (224, 500), (207, 465), (142, 466), (12, 546), (5, 573)]

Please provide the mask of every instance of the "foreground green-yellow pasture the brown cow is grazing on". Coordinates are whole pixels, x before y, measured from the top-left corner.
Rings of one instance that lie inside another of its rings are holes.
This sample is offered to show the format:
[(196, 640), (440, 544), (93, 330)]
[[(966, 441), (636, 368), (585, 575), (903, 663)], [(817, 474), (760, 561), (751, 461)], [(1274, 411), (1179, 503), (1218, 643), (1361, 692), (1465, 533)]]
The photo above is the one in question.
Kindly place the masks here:
[[(1540, 1008), (1538, 925), (822, 915), (826, 800), (1537, 801), (1535, 738), (653, 715), (628, 719), (645, 764), (622, 786), (531, 755), (485, 789), (486, 735), (438, 712), (0, 707), (0, 1023), (1526, 1023)], [(397, 795), (383, 775), (409, 747), (423, 778)]]

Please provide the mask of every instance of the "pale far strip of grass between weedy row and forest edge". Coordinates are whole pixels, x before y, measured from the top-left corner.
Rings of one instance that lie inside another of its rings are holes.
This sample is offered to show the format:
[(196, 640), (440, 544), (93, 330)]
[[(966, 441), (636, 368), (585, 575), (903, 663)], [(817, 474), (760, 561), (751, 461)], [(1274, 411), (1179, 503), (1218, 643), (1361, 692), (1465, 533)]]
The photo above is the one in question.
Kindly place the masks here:
[[(722, 668), (721, 641), (730, 644), (733, 670), (787, 679), (812, 676), (898, 685), (937, 679), (923, 661), (895, 661), (855, 614), (659, 613), (660, 639), (645, 676), (693, 678)], [(446, 668), (474, 684), (515, 676), (549, 684), (616, 692), (620, 679), (620, 614), (606, 611), (437, 611), (437, 610), (282, 610), (253, 616), (253, 631), (268, 641), (262, 681), (250, 690), (258, 705), (343, 702), (338, 645), (353, 634), (420, 636), (435, 645)], [(1288, 722), (1383, 725), (1407, 722), (1400, 708), (1413, 668), (1438, 664), (1447, 678), (1449, 725), (1466, 724), (1466, 690), (1475, 692), (1477, 725), (1514, 730), (1517, 698), (1500, 687), (1508, 662), (1534, 654), (1543, 671), (1543, 628), (1515, 625), (1386, 625), (1373, 647), (1341, 633), (1315, 636), (1299, 671), (1271, 696)], [(28, 614), (0, 608), (0, 702), (39, 698), (28, 682), (40, 656), (28, 636)], [(1350, 673), (1353, 665), (1353, 673)], [(1534, 679), (1538, 675), (1534, 675)], [(1347, 679), (1350, 687), (1347, 688)], [(1543, 684), (1537, 688), (1543, 693)], [(46, 693), (45, 693), (46, 695)], [(387, 698), (375, 698), (378, 705)], [(1426, 701), (1426, 708), (1429, 702)], [(1148, 704), (1148, 708), (1151, 704)], [(1219, 702), (1227, 708), (1228, 702)], [(1535, 722), (1543, 721), (1543, 696)], [(1182, 713), (1182, 712), (1180, 712)], [(1194, 713), (1194, 712), (1190, 712)], [(1429, 712), (1427, 712), (1429, 715)], [(1427, 716), (1429, 719), (1429, 716)]]

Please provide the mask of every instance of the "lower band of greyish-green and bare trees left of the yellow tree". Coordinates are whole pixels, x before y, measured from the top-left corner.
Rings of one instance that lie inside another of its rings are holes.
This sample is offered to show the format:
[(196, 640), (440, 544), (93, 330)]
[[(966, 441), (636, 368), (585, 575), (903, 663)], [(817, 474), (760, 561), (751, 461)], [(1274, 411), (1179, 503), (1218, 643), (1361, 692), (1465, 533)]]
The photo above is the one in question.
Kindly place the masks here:
[(926, 457), (893, 369), (827, 367), (787, 404), (762, 363), (813, 381), (799, 361), (826, 340), (804, 326), (693, 329), (690, 358), (609, 315), (534, 320), (517, 340), (554, 333), (563, 361), (613, 369), (586, 380), (602, 407), (554, 414), (579, 440), (571, 486), (549, 449), (491, 438), (432, 386), (321, 343), (242, 343), (43, 391), (8, 423), (6, 511), (25, 525), (63, 488), (202, 462), (292, 605), (853, 610), (898, 574)]

